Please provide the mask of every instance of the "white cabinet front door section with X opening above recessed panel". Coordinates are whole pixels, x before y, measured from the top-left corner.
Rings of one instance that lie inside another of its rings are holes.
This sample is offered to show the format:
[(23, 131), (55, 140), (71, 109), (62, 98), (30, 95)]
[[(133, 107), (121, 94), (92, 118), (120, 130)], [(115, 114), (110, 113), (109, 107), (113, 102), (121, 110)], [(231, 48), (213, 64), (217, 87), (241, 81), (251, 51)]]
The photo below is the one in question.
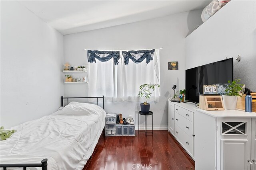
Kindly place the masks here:
[(217, 169), (250, 170), (251, 118), (218, 118)]

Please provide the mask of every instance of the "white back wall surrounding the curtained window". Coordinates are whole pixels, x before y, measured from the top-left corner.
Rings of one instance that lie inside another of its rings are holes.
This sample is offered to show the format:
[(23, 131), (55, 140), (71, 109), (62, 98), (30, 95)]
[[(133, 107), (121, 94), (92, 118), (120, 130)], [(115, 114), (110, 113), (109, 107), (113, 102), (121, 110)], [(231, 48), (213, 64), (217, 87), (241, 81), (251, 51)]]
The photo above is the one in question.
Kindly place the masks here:
[[(72, 66), (88, 64), (87, 51), (113, 49), (159, 49), (160, 50), (160, 85), (161, 97), (158, 103), (151, 102), (154, 112), (155, 129), (167, 129), (167, 100), (173, 96), (172, 86), (185, 87), (185, 37), (196, 25), (200, 25), (200, 12), (184, 12), (172, 16), (118, 25), (94, 31), (86, 31), (64, 36), (64, 62)], [(191, 25), (191, 24), (194, 24)], [(168, 61), (178, 61), (179, 70), (168, 70)], [(82, 76), (73, 74), (73, 76)], [(64, 78), (64, 76), (63, 76)], [(89, 80), (90, 81), (90, 80)], [(137, 87), (139, 88), (139, 87)], [(170, 94), (171, 93), (171, 94)], [(65, 96), (87, 96), (88, 85), (66, 84)], [(107, 102), (106, 111), (122, 113), (124, 117), (132, 115), (138, 119), (140, 102)], [(140, 119), (142, 120), (143, 117)], [(144, 119), (141, 121), (141, 124)], [(152, 125), (151, 117), (148, 125)]]

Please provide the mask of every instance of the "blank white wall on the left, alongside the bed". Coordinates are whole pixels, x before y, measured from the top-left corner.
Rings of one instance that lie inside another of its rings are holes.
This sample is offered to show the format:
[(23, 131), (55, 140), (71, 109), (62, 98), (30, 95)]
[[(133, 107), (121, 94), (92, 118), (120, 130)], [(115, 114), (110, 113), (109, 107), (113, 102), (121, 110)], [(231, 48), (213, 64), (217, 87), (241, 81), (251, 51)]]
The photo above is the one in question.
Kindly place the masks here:
[(17, 1), (1, 1), (1, 126), (48, 115), (63, 95), (63, 35)]

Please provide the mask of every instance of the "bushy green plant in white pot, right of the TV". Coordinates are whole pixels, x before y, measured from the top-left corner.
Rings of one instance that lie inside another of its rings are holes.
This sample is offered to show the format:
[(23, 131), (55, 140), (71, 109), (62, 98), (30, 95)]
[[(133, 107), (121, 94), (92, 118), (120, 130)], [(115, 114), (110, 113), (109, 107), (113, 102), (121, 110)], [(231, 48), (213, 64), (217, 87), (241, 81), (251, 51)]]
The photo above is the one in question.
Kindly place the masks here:
[(238, 82), (240, 82), (240, 79), (235, 79), (232, 82), (228, 80), (229, 85), (225, 90), (226, 94), (222, 95), (225, 109), (235, 110), (238, 96), (242, 97), (239, 92), (243, 85), (238, 84)]

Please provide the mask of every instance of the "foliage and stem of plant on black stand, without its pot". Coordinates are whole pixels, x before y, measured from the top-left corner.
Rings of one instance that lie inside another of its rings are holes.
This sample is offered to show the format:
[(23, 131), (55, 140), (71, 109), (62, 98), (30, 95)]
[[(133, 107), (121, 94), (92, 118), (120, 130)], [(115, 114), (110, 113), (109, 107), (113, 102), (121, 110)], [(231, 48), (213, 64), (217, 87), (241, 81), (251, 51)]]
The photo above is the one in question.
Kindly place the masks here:
[(151, 92), (150, 90), (152, 89), (153, 91), (155, 90), (155, 87), (160, 87), (159, 84), (143, 84), (140, 86), (140, 91), (139, 91), (139, 94), (138, 96), (140, 98), (145, 98), (145, 102), (144, 102), (144, 105), (147, 105), (148, 104), (148, 99), (150, 98), (151, 96)]

